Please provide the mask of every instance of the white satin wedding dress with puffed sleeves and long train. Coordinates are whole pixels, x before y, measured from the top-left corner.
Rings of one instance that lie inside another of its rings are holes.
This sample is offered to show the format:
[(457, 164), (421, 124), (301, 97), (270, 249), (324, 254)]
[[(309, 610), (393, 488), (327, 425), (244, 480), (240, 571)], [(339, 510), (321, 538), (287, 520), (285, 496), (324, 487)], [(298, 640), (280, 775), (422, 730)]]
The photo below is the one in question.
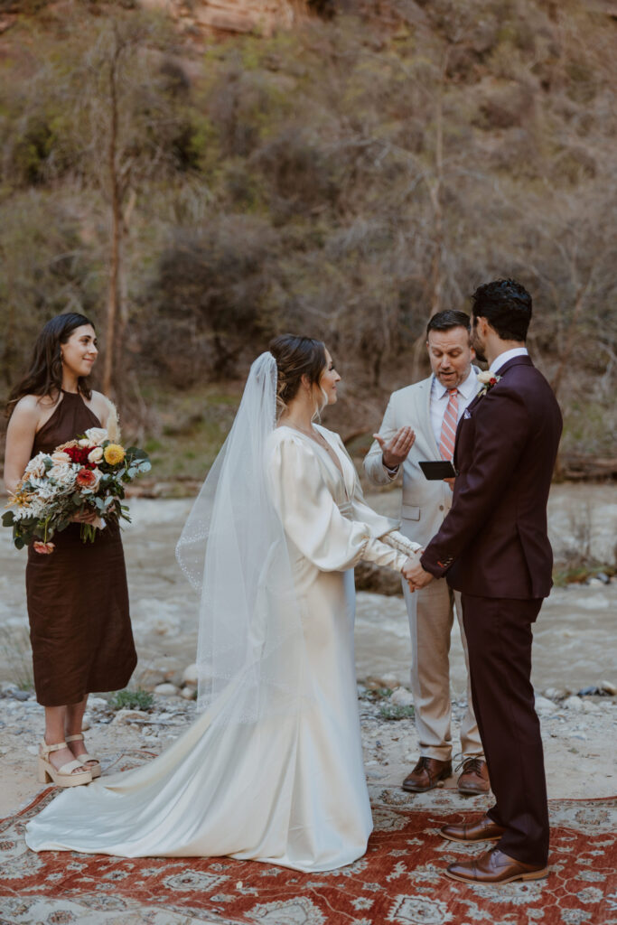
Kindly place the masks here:
[(268, 438), (302, 623), (298, 685), (308, 695), (289, 713), (265, 710), (253, 721), (217, 723), (217, 714), (244, 696), (242, 679), (232, 678), (159, 758), (56, 796), (28, 824), (34, 851), (228, 855), (302, 871), (331, 870), (364, 854), (372, 820), (356, 697), (352, 568), (365, 559), (400, 570), (401, 549), (410, 544), (364, 503), (338, 435), (319, 429), (342, 475), (327, 450), (300, 431), (280, 426)]

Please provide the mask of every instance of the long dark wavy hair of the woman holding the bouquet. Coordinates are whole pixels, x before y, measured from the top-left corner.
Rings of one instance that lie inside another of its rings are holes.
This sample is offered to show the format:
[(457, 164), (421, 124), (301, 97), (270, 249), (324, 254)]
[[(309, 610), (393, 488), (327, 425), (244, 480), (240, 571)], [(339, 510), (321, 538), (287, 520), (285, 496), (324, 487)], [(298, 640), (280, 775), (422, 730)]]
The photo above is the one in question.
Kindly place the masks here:
[[(62, 389), (62, 354), (60, 347), (66, 344), (73, 331), (83, 325), (93, 326), (85, 314), (67, 312), (50, 318), (34, 342), (30, 367), (25, 376), (12, 389), (6, 402), (6, 416), (10, 417), (15, 405), (24, 395), (51, 395), (55, 398)], [(86, 376), (77, 380), (78, 391), (90, 399), (92, 388)]]

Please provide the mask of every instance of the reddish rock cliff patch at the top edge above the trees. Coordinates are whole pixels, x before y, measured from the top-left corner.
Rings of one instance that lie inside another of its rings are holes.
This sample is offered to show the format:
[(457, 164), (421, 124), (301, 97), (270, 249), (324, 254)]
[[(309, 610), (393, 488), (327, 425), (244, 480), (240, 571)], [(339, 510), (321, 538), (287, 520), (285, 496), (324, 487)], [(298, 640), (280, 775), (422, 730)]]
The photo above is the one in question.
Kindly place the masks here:
[(271, 35), (305, 17), (308, 0), (142, 0), (142, 6), (165, 9), (195, 37), (253, 31)]

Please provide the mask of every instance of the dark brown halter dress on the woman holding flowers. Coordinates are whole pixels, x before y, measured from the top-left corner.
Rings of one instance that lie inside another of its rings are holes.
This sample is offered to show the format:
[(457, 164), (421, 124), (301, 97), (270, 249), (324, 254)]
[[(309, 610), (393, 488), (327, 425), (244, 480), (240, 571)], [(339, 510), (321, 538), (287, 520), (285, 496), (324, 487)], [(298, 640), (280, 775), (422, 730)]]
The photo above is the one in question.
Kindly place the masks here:
[[(32, 456), (100, 426), (79, 394), (63, 392), (34, 438)], [(93, 543), (82, 543), (80, 524), (70, 524), (53, 542), (51, 555), (30, 548), (26, 568), (34, 687), (44, 707), (125, 687), (137, 664), (117, 524), (97, 530)]]

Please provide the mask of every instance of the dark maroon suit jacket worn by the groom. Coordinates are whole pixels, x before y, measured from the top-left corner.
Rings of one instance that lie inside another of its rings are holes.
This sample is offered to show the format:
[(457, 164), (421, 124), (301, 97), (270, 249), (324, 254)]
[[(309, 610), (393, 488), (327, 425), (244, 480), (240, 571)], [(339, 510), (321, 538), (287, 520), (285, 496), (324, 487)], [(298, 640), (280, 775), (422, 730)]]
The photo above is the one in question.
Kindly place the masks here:
[(546, 598), (550, 480), (561, 412), (528, 356), (472, 401), (456, 435), (452, 507), (421, 558), (426, 572), (481, 598)]

